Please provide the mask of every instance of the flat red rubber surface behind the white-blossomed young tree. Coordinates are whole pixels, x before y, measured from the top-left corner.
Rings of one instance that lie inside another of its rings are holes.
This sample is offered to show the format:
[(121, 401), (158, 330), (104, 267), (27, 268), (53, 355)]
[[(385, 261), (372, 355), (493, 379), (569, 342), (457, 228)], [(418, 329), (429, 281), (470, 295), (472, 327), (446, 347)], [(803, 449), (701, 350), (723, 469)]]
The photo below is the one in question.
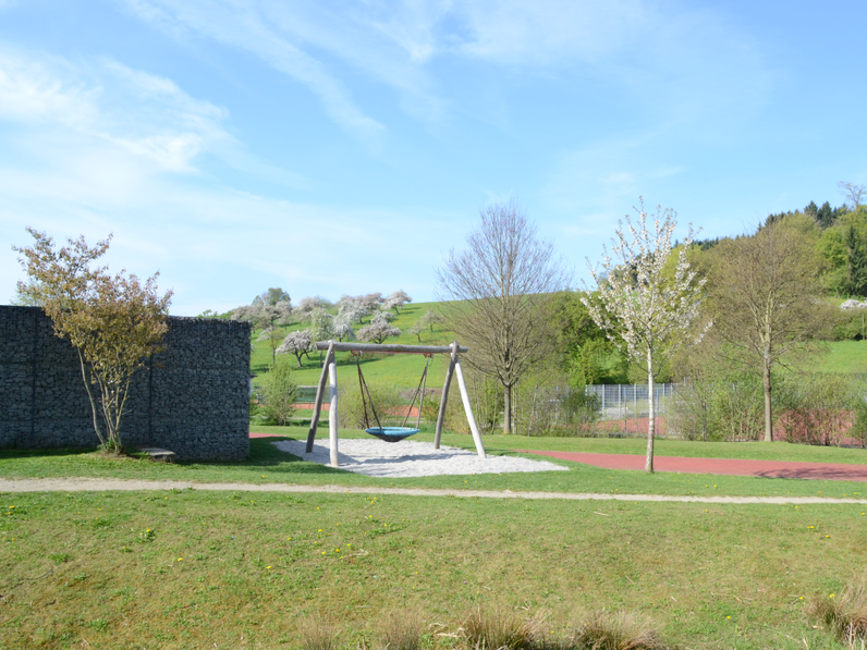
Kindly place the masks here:
[[(632, 454), (591, 454), (582, 452), (539, 452), (515, 450), (551, 458), (574, 461), (606, 469), (644, 469), (644, 456)], [(839, 463), (790, 463), (786, 461), (736, 461), (732, 458), (683, 458), (654, 456), (655, 471), (682, 474), (721, 474), (728, 476), (761, 476), (766, 478), (807, 478), (867, 482), (867, 465)]]

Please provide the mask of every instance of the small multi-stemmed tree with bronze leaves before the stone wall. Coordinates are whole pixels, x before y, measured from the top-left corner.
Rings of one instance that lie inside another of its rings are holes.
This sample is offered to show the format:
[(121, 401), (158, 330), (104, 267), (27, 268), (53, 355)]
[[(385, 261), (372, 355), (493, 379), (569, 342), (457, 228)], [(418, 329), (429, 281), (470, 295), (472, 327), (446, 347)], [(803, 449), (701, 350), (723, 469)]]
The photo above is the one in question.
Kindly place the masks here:
[(156, 273), (145, 282), (121, 271), (110, 275), (91, 263), (108, 250), (111, 235), (93, 248), (84, 237), (54, 249), (51, 237), (28, 228), (32, 248), (14, 248), (29, 282), (19, 293), (40, 306), (78, 353), (94, 429), (106, 451), (123, 451), (121, 421), (133, 373), (163, 348), (172, 292), (160, 296)]

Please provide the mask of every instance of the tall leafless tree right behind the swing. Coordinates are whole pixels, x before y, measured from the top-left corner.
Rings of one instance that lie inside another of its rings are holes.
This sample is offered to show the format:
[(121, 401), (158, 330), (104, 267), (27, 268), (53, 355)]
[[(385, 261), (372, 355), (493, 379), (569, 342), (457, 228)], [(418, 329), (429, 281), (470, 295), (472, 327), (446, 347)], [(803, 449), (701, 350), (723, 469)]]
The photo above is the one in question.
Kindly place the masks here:
[(437, 271), (440, 294), (453, 301), (445, 319), (471, 353), (467, 364), (503, 389), (503, 432), (512, 432), (512, 389), (546, 352), (545, 304), (567, 282), (553, 245), (517, 201), (494, 201), (480, 211), (467, 249), (452, 249)]

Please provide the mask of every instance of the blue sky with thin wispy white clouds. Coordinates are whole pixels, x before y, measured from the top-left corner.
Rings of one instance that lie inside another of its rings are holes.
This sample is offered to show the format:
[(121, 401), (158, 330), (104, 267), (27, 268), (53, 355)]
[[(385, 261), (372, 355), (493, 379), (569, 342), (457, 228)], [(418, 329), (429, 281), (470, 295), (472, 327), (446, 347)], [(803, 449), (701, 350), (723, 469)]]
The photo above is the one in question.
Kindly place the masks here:
[(0, 0), (0, 303), (26, 226), (171, 312), (444, 295), (515, 198), (589, 280), (618, 220), (743, 233), (867, 183), (867, 3)]

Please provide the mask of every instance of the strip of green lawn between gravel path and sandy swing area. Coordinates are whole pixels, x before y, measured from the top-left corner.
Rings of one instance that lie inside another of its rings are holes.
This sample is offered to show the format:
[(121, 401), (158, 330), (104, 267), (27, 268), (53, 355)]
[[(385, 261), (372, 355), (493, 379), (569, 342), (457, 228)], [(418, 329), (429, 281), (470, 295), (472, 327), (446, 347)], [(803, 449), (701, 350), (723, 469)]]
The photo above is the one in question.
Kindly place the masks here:
[[(298, 440), (306, 439), (306, 429), (274, 427)], [(327, 431), (319, 437), (327, 438)], [(358, 432), (341, 432), (342, 437), (364, 436)], [(430, 433), (419, 433), (419, 440), (432, 440)], [(492, 454), (515, 452), (505, 449), (501, 437), (486, 437), (488, 451)], [(536, 443), (540, 439), (505, 439), (521, 449), (521, 443)], [(522, 441), (518, 443), (517, 441)], [(524, 442), (526, 441), (526, 442)], [(558, 441), (559, 442), (559, 441)], [(620, 441), (631, 442), (631, 441)], [(465, 436), (443, 436), (443, 443), (472, 449), (473, 442)], [(693, 443), (703, 444), (703, 443)], [(710, 443), (705, 443), (710, 446)], [(538, 445), (537, 445), (538, 446)], [(782, 446), (782, 445), (781, 445)], [(815, 449), (815, 447), (804, 447)], [(540, 459), (538, 456), (533, 456)], [(237, 463), (178, 463), (166, 465), (149, 461), (107, 459), (95, 452), (0, 452), (0, 477), (119, 477), (141, 479), (173, 479), (203, 482), (253, 482), (253, 483), (304, 483), (339, 486), (395, 486), (442, 488), (451, 490), (534, 490), (562, 492), (596, 492), (622, 494), (685, 494), (685, 495), (799, 495), (799, 496), (857, 496), (867, 495), (867, 485), (854, 481), (817, 481), (796, 479), (772, 479), (754, 477), (729, 477), (711, 475), (679, 475), (644, 471), (612, 470), (569, 461), (548, 459), (570, 468), (570, 471), (540, 471), (520, 474), (490, 474), (474, 476), (437, 476), (424, 478), (371, 478), (325, 467), (316, 463), (280, 452), (268, 439), (251, 441), (251, 458)]]

